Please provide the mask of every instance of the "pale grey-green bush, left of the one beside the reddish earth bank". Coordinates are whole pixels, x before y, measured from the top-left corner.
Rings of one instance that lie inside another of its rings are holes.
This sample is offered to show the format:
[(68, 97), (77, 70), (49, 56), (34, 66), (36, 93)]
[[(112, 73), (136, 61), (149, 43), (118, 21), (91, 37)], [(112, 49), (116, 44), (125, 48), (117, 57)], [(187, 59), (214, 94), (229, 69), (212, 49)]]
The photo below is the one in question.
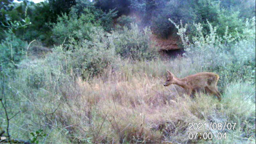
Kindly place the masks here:
[[(59, 61), (63, 69), (69, 74), (75, 73), (87, 76), (95, 76), (103, 72), (103, 69), (115, 67), (118, 58), (115, 47), (106, 37), (107, 33), (100, 27), (92, 27), (89, 34), (91, 41), (81, 40), (77, 42), (74, 38), (68, 41), (68, 50), (63, 50), (63, 45), (53, 50), (51, 57), (58, 53)], [(61, 56), (62, 55), (62, 56)], [(51, 60), (52, 61), (52, 60)]]

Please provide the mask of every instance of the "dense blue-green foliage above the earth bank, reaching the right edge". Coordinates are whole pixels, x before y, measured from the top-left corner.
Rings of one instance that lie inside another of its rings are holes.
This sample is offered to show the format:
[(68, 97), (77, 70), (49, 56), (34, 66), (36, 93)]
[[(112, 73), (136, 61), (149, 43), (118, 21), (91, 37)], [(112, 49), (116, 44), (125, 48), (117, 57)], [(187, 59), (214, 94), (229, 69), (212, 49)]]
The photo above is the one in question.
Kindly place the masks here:
[[(179, 20), (190, 24), (200, 22), (203, 24), (204, 33), (209, 33), (206, 21), (208, 20), (213, 26), (220, 27), (217, 32), (223, 35), (226, 25), (229, 25), (230, 30), (234, 32), (235, 28), (242, 28), (238, 26), (242, 24), (241, 20), (252, 18), (256, 14), (252, 1), (243, 0), (135, 0), (130, 7), (133, 12), (141, 16), (144, 25), (150, 25), (154, 33), (164, 38), (175, 31), (168, 18), (176, 23)], [(237, 11), (238, 9), (240, 12)], [(189, 29), (194, 31), (193, 27)]]

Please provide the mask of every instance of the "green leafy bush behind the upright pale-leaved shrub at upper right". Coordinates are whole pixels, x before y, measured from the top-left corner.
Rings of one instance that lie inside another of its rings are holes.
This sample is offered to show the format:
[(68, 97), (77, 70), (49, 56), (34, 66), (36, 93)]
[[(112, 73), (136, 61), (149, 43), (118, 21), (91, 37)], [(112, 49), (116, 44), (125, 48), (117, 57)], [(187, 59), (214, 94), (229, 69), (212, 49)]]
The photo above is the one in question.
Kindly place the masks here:
[[(220, 1), (199, 0), (196, 2), (196, 23), (201, 23), (204, 35), (211, 33), (207, 21), (217, 28), (216, 33), (219, 36), (225, 35), (227, 26), (229, 34), (233, 37), (237, 31), (242, 33), (244, 23), (239, 17), (240, 12), (232, 8), (227, 9), (226, 7), (223, 7)], [(191, 35), (195, 35), (196, 30), (194, 32)]]

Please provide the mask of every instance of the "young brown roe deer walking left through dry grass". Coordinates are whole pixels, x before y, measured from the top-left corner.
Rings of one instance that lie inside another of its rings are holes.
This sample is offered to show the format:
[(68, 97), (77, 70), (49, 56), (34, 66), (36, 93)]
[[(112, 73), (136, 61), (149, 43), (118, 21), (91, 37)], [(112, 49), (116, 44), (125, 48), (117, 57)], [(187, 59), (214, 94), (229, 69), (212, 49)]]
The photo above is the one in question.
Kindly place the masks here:
[(164, 86), (170, 84), (179, 85), (187, 91), (188, 96), (190, 96), (191, 92), (195, 91), (196, 88), (207, 88), (218, 97), (219, 101), (221, 100), (220, 92), (217, 88), (217, 83), (220, 78), (219, 75), (211, 72), (200, 72), (180, 79), (175, 77), (170, 71), (167, 70), (167, 72), (168, 76)]

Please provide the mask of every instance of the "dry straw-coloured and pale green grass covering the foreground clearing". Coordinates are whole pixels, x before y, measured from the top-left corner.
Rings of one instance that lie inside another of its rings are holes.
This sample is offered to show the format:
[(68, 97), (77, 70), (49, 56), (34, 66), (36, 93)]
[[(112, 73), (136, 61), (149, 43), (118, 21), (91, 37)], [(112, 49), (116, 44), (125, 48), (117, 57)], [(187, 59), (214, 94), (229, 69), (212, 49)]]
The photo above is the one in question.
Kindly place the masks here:
[[(166, 69), (179, 77), (199, 72), (189, 60), (124, 61), (119, 68), (87, 81), (61, 73), (53, 77), (44, 69), (39, 89), (24, 85), (27, 71), (21, 70), (9, 84), (22, 98), (13, 107), (22, 112), (13, 119), (12, 136), (28, 139), (41, 128), (47, 136), (40, 143), (255, 142), (255, 84), (229, 84), (221, 102), (203, 93), (192, 99), (179, 86), (163, 86)], [(227, 140), (189, 140), (189, 132), (209, 132), (188, 129), (199, 122), (237, 123), (237, 128), (225, 130)]]

